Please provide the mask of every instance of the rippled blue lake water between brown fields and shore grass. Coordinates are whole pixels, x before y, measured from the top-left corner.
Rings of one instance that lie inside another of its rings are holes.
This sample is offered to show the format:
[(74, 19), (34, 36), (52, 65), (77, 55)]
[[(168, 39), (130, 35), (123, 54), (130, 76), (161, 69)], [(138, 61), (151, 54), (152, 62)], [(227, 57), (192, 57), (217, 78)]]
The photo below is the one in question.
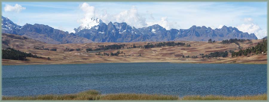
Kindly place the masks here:
[(264, 64), (102, 63), (2, 66), (2, 95), (108, 93), (256, 95), (267, 93)]

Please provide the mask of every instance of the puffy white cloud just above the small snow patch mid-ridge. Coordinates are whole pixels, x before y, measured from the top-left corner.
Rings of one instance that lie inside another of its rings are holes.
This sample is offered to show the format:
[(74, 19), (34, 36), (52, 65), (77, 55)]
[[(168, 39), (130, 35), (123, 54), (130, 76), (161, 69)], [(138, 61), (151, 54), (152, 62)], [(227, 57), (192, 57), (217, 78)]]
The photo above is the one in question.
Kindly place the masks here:
[(160, 26), (164, 27), (166, 30), (170, 30), (172, 28), (177, 28), (177, 29), (180, 28), (180, 26), (177, 24), (177, 22), (175, 22), (175, 21), (170, 22), (167, 20), (167, 17), (162, 17), (161, 21), (147, 22), (147, 26), (152, 26), (154, 24), (159, 24)]

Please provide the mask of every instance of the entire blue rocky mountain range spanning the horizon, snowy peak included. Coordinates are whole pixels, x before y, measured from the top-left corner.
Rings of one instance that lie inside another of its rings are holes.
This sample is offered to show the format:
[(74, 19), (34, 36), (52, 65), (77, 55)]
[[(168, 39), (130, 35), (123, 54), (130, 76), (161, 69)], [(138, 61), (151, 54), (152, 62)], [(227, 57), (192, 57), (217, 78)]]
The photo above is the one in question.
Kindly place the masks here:
[(257, 39), (256, 35), (244, 33), (235, 27), (221, 29), (192, 26), (189, 29), (166, 30), (158, 24), (135, 28), (125, 22), (104, 23), (99, 18), (85, 20), (71, 33), (43, 24), (19, 26), (2, 16), (2, 33), (26, 36), (50, 44), (91, 42), (141, 42), (141, 41), (221, 41), (230, 38)]

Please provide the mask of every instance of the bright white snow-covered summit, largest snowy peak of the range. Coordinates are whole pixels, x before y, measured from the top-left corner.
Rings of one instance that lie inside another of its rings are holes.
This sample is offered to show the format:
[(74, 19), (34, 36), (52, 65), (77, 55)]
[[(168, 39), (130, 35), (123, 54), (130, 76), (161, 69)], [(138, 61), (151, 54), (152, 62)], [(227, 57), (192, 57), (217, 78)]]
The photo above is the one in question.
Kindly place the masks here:
[[(77, 28), (78, 31), (83, 30), (83, 29), (91, 29), (94, 26), (97, 26), (99, 24), (104, 23), (101, 19), (99, 18), (91, 18), (91, 19), (86, 19), (85, 21), (80, 24), (80, 26)], [(98, 27), (95, 27), (95, 29), (98, 29)]]

